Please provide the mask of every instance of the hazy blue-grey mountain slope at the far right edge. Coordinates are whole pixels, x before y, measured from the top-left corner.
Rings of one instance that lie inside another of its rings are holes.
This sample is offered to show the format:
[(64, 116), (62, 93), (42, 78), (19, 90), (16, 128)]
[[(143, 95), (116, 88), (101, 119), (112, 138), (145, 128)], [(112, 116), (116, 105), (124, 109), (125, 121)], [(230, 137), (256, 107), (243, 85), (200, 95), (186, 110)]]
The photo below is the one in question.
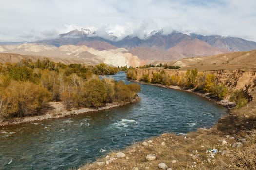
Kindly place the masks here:
[(247, 41), (242, 38), (224, 37), (220, 35), (203, 36), (193, 33), (190, 36), (205, 41), (214, 47), (229, 51), (249, 51), (256, 49), (256, 42)]

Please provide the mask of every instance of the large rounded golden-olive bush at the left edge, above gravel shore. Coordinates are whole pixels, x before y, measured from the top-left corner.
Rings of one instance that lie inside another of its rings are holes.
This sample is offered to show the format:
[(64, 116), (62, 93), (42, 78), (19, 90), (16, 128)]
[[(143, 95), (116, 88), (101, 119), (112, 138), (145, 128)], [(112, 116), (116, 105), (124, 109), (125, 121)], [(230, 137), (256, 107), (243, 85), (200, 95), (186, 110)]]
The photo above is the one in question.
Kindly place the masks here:
[(0, 91), (0, 115), (23, 117), (36, 115), (50, 100), (50, 93), (40, 85), (12, 81)]

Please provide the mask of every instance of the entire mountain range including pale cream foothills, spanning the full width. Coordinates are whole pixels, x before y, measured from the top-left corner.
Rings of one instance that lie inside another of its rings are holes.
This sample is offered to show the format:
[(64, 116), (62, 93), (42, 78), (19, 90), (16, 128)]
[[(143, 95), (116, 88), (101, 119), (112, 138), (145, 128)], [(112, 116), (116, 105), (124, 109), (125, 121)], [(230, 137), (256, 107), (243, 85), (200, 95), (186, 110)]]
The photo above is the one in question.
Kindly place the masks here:
[[(0, 43), (3, 45), (0, 46), (0, 52), (55, 58), (57, 56), (59, 58), (87, 58), (87, 63), (90, 60), (89, 63), (106, 62), (114, 66), (138, 66), (138, 64), (153, 61), (172, 61), (256, 49), (256, 42), (241, 38), (184, 34), (177, 31), (166, 34), (163, 29), (152, 31), (150, 34), (144, 35), (143, 38), (134, 35), (120, 38), (112, 32), (99, 34), (95, 28), (75, 29), (58, 36), (55, 39), (39, 40), (32, 43), (22, 42), (24, 44)], [(63, 50), (63, 48), (69, 49), (69, 51)], [(130, 56), (128, 58), (136, 60), (136, 62), (127, 61), (128, 55)], [(118, 57), (116, 61), (114, 57)], [(117, 61), (120, 60), (120, 57), (123, 59), (118, 64)]]

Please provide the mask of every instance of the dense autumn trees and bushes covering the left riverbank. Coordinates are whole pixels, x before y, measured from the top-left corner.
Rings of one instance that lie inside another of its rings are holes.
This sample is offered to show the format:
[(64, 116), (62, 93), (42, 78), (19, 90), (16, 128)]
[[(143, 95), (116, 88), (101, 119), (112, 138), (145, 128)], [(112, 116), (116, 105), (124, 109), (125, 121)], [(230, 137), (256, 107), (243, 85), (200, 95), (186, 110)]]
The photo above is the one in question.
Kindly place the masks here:
[(0, 64), (0, 120), (40, 114), (49, 101), (63, 101), (67, 109), (129, 101), (139, 85), (98, 76), (117, 72), (106, 64), (65, 65), (48, 59)]

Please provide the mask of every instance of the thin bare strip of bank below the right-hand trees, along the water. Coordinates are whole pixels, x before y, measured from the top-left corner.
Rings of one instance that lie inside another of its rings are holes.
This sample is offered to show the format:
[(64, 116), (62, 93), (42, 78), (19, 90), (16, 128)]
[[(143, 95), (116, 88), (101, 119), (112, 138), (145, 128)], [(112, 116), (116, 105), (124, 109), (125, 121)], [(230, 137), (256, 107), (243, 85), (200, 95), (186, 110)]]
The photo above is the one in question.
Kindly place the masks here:
[(228, 100), (217, 100), (216, 98), (211, 98), (209, 93), (197, 92), (197, 91), (193, 91), (191, 89), (186, 90), (186, 89), (182, 89), (181, 87), (179, 87), (177, 85), (174, 86), (174, 85), (153, 84), (153, 83), (141, 82), (141, 81), (138, 81), (138, 80), (130, 80), (130, 81), (141, 83), (141, 84), (144, 84), (144, 85), (153, 85), (153, 86), (158, 86), (158, 87), (163, 87), (163, 88), (168, 88), (168, 89), (174, 89), (174, 90), (180, 90), (180, 91), (185, 91), (185, 92), (188, 92), (188, 93), (193, 93), (193, 94), (196, 94), (198, 96), (201, 96), (201, 97), (207, 99), (208, 101), (211, 101), (211, 102), (214, 102), (216, 104), (222, 105), (222, 106), (226, 107), (227, 109), (232, 109), (235, 106), (234, 102), (230, 102)]

